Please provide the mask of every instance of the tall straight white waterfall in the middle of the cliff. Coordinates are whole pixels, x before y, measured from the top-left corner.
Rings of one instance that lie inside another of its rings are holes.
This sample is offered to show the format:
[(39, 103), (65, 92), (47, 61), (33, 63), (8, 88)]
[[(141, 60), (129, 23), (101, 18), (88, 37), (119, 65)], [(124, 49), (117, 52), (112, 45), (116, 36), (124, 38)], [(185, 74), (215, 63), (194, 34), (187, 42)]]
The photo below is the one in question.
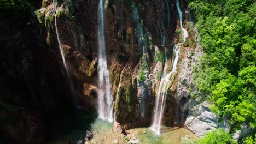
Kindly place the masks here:
[(103, 2), (98, 4), (98, 117), (113, 122), (111, 86), (107, 68), (107, 58), (104, 37)]

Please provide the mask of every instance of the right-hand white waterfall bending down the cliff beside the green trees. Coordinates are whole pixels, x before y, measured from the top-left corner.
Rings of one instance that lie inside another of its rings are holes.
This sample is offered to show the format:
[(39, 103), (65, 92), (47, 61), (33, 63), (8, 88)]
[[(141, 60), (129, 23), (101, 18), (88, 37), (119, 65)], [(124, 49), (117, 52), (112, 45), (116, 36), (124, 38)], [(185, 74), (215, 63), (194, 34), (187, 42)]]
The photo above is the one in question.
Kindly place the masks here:
[[(152, 123), (152, 126), (150, 127), (150, 129), (152, 129), (158, 135), (160, 135), (160, 132), (161, 132), (161, 121), (162, 121), (162, 115), (163, 115), (164, 109), (165, 109), (165, 101), (166, 101), (166, 97), (167, 97), (167, 91), (168, 91), (168, 88), (172, 84), (172, 81), (170, 81), (170, 77), (172, 76), (174, 71), (176, 71), (176, 68), (177, 68), (178, 57), (179, 57), (179, 49), (181, 48), (181, 45), (185, 43), (185, 39), (188, 37), (188, 32), (182, 26), (182, 11), (179, 8), (179, 1), (178, 0), (176, 0), (176, 5), (177, 5), (177, 9), (178, 9), (181, 29), (182, 29), (182, 32), (183, 32), (183, 35), (182, 35), (183, 36), (183, 42), (178, 43), (174, 46), (173, 51), (175, 52), (175, 55), (172, 57), (172, 59), (173, 59), (172, 60), (173, 61), (172, 71), (165, 76), (165, 73), (166, 73), (165, 72), (166, 71), (166, 64), (165, 64), (165, 68), (164, 68), (164, 71), (163, 71), (163, 74), (162, 74), (160, 86), (159, 86), (159, 89), (158, 89), (158, 95), (156, 97), (153, 123)], [(165, 55), (165, 57), (166, 57), (166, 55)]]

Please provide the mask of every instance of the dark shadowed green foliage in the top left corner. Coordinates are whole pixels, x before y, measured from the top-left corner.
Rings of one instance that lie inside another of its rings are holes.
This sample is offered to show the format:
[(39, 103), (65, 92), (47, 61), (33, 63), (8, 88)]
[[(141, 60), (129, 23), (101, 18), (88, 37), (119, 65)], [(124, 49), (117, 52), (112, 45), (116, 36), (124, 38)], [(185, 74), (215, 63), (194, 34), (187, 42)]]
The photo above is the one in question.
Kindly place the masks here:
[(30, 15), (30, 5), (27, 0), (1, 0), (0, 17), (22, 20)]

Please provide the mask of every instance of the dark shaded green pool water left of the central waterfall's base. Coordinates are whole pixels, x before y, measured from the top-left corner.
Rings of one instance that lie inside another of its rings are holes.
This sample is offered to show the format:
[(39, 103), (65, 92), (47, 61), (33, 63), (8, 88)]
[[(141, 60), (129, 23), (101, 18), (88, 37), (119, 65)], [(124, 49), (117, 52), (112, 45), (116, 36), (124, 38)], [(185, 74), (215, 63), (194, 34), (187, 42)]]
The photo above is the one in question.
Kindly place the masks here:
[(75, 108), (56, 110), (45, 116), (46, 143), (74, 143), (82, 140), (86, 130), (91, 131), (91, 124), (97, 118), (94, 110)]

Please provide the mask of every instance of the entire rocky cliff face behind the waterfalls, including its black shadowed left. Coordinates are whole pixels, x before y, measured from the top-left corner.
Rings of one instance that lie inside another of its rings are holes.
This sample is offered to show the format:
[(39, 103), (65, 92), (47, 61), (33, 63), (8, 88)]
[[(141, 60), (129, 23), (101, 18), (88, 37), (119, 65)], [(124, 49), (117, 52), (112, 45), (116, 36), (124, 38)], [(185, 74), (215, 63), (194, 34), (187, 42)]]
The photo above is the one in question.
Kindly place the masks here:
[[(0, 54), (4, 68), (1, 99), (25, 107), (27, 115), (43, 125), (41, 115), (61, 105), (71, 105), (69, 101), (74, 99), (57, 48), (55, 15), (77, 104), (91, 109), (97, 106), (98, 1), (34, 3), (38, 10), (20, 27), (15, 28), (15, 22), (6, 20), (0, 23), (4, 27), (0, 39), (4, 47)], [(182, 2), (181, 9), (185, 9)], [(107, 64), (117, 122), (124, 125), (124, 129), (150, 125), (164, 69), (164, 50), (167, 50), (169, 72), (173, 46), (181, 39), (175, 1), (105, 1), (104, 13)], [(166, 125), (185, 122), (193, 81), (192, 67), (200, 56), (193, 27), (185, 23), (184, 28), (190, 37), (181, 48), (178, 69), (172, 77), (174, 82), (168, 88), (163, 122)], [(32, 109), (37, 109), (39, 114), (31, 114)]]

